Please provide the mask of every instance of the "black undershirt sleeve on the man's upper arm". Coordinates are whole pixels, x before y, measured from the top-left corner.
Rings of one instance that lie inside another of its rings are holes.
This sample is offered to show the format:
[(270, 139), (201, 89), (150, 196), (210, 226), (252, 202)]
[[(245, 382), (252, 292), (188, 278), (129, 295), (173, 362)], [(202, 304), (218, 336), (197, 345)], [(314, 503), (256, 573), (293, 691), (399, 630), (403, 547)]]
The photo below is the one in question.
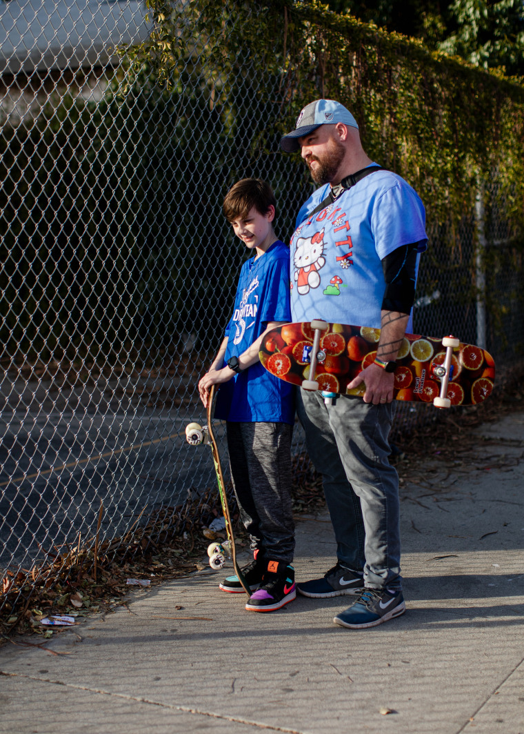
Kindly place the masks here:
[(403, 244), (382, 260), (386, 287), (382, 310), (411, 313), (415, 302), (418, 242)]

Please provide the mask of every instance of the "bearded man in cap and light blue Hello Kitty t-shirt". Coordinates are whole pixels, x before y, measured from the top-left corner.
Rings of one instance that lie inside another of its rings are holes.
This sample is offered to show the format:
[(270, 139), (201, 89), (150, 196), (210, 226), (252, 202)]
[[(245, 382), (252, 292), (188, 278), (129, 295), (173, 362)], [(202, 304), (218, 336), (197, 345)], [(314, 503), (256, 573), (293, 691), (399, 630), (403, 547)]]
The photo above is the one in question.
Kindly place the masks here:
[(376, 360), (349, 385), (365, 383), (363, 400), (340, 396), (327, 405), (321, 393), (299, 391), (297, 412), (323, 478), (338, 562), (297, 589), (313, 598), (355, 595), (335, 623), (374, 627), (406, 609), (399, 479), (388, 436), (395, 359), (411, 323), (418, 253), (426, 250), (425, 212), (406, 181), (366, 155), (357, 122), (338, 102), (308, 104), (281, 145), (301, 150), (321, 185), (300, 209), (291, 238), (293, 321), (382, 330)]

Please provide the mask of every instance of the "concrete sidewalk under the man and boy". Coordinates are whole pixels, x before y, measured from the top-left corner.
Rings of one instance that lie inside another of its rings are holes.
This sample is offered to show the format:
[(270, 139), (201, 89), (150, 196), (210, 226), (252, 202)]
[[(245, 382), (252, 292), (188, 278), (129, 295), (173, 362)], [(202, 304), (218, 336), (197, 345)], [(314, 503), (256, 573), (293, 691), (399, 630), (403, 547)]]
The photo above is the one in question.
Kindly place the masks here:
[[(63, 631), (65, 654), (0, 648), (0, 732), (524, 734), (524, 413), (481, 433), (404, 483), (403, 617), (334, 625), (351, 597), (247, 612), (203, 571)], [(297, 580), (334, 550), (327, 515), (300, 520)]]

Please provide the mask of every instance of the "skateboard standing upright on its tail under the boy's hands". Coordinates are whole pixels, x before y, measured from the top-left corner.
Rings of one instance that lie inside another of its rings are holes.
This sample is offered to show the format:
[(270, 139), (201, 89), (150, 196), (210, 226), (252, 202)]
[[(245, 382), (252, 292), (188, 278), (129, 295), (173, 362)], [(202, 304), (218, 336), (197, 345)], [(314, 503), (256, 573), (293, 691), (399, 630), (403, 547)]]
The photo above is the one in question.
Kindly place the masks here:
[(198, 446), (201, 443), (208, 443), (211, 446), (211, 453), (213, 454), (213, 463), (216, 472), (216, 482), (219, 488), (220, 504), (222, 505), (222, 512), (224, 513), (225, 520), (225, 531), (228, 536), (227, 543), (214, 542), (208, 547), (209, 565), (211, 568), (219, 569), (225, 564), (225, 557), (231, 556), (233, 561), (233, 567), (237, 578), (239, 579), (242, 589), (246, 592), (247, 596), (251, 596), (250, 587), (247, 585), (247, 581), (242, 575), (239, 568), (239, 564), (236, 562), (236, 545), (235, 536), (233, 534), (233, 523), (231, 522), (231, 514), (229, 510), (228, 497), (225, 493), (225, 482), (224, 474), (222, 473), (222, 464), (220, 463), (220, 454), (216, 438), (213, 431), (213, 407), (214, 407), (214, 396), (215, 396), (215, 385), (211, 385), (211, 390), (208, 396), (208, 407), (207, 407), (207, 426), (200, 426), (197, 423), (190, 423), (186, 426), (186, 440), (192, 446)]

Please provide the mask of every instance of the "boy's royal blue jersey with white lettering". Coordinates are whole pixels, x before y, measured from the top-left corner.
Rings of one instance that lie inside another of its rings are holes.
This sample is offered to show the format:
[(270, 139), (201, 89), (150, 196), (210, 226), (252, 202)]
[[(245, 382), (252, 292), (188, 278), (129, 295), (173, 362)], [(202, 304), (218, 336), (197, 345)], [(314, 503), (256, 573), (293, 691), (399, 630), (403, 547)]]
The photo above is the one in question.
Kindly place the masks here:
[[(225, 335), (230, 357), (239, 357), (266, 330), (269, 321), (291, 321), (289, 249), (276, 241), (261, 257), (244, 263), (235, 306)], [(274, 377), (260, 362), (220, 385), (216, 418), (246, 423), (294, 423), (294, 387)]]

